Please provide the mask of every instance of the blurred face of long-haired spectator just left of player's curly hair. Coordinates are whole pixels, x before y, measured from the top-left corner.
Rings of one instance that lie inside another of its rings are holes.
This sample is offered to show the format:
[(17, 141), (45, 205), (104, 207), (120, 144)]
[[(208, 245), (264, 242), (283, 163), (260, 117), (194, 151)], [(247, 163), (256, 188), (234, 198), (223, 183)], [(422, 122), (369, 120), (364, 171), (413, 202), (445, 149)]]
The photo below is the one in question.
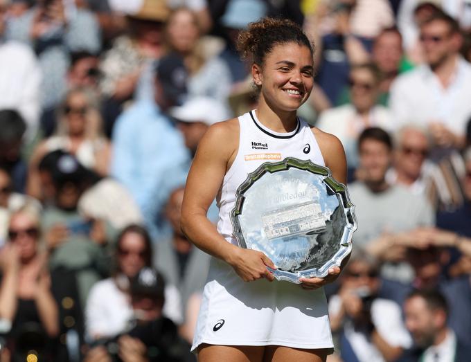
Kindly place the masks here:
[(167, 26), (168, 42), (172, 48), (180, 53), (191, 51), (199, 37), (196, 19), (188, 10), (175, 12)]

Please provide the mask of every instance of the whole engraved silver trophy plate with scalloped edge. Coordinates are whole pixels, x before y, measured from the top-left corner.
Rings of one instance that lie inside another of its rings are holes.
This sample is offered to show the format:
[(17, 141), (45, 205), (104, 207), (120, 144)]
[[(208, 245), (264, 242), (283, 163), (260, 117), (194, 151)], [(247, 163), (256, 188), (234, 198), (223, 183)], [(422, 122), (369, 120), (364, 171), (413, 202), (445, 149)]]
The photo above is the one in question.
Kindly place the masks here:
[(328, 168), (292, 157), (263, 163), (236, 196), (233, 234), (274, 262), (276, 279), (323, 278), (350, 254), (355, 206)]

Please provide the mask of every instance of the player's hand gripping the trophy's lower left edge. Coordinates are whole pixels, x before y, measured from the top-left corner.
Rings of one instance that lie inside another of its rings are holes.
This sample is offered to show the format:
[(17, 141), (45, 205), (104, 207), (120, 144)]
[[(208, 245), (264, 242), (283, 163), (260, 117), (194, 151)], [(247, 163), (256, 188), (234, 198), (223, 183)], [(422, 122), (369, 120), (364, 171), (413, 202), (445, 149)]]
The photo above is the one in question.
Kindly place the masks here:
[(252, 282), (261, 278), (266, 278), (269, 282), (272, 282), (275, 279), (267, 266), (272, 269), (276, 269), (276, 266), (261, 251), (237, 248), (231, 260), (229, 260), (229, 264), (245, 282)]

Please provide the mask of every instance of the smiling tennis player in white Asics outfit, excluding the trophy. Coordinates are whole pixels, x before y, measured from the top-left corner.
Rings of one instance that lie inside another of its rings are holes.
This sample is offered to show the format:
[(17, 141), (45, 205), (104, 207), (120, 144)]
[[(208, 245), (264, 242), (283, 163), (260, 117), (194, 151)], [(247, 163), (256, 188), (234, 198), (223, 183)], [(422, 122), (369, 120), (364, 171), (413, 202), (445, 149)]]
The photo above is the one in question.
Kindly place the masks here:
[[(229, 213), (236, 188), (261, 163), (286, 156), (326, 165), (345, 182), (346, 161), (335, 136), (296, 117), (313, 84), (312, 44), (285, 19), (262, 19), (242, 32), (238, 46), (251, 58), (260, 91), (258, 109), (212, 125), (199, 143), (181, 212), (189, 239), (210, 253), (210, 271), (197, 321), (193, 351), (199, 361), (325, 361), (332, 352), (324, 284), (272, 282), (274, 268), (258, 251), (239, 248)], [(211, 111), (211, 110), (208, 110)], [(206, 211), (217, 197), (217, 228)]]

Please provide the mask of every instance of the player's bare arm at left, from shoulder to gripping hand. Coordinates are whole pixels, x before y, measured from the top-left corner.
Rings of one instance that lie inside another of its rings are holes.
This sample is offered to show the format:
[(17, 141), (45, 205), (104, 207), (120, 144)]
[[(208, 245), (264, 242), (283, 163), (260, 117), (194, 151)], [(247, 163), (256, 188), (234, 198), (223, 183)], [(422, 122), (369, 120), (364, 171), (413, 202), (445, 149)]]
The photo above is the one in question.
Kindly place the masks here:
[(181, 230), (202, 251), (233, 266), (243, 280), (273, 280), (266, 266), (274, 268), (274, 264), (265, 254), (227, 242), (206, 217), (237, 154), (238, 133), (238, 120), (233, 119), (211, 126), (199, 142), (186, 181)]

